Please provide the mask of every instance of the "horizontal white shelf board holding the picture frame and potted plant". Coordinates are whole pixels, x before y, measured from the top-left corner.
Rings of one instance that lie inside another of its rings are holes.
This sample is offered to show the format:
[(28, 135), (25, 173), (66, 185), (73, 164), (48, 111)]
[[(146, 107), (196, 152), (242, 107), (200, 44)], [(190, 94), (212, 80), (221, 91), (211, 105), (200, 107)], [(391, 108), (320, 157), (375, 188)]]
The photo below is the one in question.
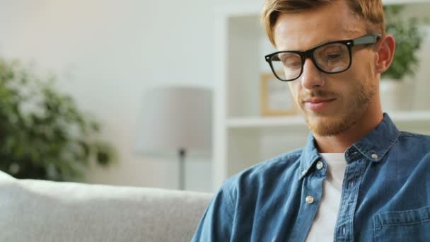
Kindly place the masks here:
[[(429, 122), (430, 111), (412, 111), (389, 113), (394, 122)], [(230, 129), (241, 128), (265, 128), (265, 127), (305, 127), (306, 122), (300, 115), (283, 117), (249, 117), (231, 118), (227, 120), (227, 127)]]

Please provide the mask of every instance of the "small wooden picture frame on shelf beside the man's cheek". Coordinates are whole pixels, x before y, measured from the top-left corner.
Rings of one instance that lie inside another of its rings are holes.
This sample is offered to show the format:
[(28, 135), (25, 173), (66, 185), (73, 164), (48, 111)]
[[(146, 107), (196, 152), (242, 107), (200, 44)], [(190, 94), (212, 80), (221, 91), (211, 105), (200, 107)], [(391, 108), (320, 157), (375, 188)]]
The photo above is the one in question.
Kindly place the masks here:
[(296, 115), (297, 108), (289, 85), (272, 72), (260, 76), (260, 113), (262, 116)]

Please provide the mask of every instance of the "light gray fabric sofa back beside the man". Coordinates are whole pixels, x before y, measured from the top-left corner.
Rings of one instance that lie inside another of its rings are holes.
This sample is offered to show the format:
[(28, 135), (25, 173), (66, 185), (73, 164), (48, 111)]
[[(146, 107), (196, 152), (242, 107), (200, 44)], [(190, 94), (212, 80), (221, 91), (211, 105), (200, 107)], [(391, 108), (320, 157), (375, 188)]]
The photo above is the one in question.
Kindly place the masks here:
[(0, 241), (190, 241), (210, 198), (0, 172)]

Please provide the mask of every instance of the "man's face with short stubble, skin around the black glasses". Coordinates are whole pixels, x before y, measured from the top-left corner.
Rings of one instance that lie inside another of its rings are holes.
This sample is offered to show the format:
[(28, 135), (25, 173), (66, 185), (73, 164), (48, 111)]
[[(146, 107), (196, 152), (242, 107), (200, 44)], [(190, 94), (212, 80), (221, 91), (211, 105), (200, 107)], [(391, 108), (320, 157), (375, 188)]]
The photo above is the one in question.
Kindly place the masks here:
[[(309, 50), (335, 40), (366, 35), (364, 24), (346, 1), (301, 13), (282, 13), (274, 27), (278, 50)], [(339, 134), (361, 121), (378, 100), (378, 79), (372, 47), (352, 48), (351, 67), (339, 74), (318, 71), (306, 59), (303, 74), (289, 81), (291, 93), (310, 129), (317, 135)]]

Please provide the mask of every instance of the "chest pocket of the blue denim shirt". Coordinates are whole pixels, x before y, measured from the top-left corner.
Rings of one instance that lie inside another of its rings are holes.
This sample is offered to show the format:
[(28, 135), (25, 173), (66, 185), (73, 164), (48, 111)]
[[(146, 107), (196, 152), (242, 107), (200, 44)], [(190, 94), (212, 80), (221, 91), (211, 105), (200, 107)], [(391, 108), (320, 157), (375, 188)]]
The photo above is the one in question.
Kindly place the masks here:
[(430, 206), (373, 217), (375, 241), (430, 241)]

